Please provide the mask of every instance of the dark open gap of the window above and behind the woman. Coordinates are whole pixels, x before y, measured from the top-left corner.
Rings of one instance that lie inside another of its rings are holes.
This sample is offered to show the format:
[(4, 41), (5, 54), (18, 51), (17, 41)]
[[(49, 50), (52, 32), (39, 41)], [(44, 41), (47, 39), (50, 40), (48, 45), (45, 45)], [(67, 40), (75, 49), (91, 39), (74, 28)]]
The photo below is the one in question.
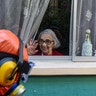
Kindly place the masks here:
[(56, 50), (67, 56), (69, 55), (70, 13), (71, 0), (50, 0), (36, 36), (37, 39), (44, 29), (52, 29), (61, 43)]

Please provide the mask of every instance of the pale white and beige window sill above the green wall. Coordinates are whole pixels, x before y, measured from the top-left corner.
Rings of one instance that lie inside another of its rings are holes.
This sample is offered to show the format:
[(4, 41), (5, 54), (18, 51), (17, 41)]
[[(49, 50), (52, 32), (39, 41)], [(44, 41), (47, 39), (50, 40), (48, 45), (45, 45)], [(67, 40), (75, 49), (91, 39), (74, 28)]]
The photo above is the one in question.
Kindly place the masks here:
[(35, 63), (30, 75), (96, 75), (96, 62), (72, 62), (70, 58), (50, 58), (30, 56), (29, 61)]

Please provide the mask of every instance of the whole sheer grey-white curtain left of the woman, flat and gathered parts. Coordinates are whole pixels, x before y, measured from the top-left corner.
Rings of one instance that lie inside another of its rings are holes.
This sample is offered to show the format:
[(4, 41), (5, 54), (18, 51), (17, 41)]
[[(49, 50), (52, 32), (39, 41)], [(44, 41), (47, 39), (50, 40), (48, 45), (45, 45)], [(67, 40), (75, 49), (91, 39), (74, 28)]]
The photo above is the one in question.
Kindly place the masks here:
[(26, 43), (34, 38), (50, 0), (0, 0), (0, 29), (20, 35)]

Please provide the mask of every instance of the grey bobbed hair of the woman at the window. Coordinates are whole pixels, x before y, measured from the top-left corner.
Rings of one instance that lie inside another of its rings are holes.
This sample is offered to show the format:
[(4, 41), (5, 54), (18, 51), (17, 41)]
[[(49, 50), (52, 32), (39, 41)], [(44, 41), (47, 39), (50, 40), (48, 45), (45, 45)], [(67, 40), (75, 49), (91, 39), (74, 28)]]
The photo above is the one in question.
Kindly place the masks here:
[(45, 29), (44, 31), (42, 31), (39, 36), (38, 39), (40, 39), (42, 34), (51, 34), (53, 41), (54, 41), (54, 49), (58, 48), (61, 46), (60, 41), (58, 40), (58, 38), (56, 37), (56, 34), (54, 33), (54, 31), (52, 31), (51, 29)]

